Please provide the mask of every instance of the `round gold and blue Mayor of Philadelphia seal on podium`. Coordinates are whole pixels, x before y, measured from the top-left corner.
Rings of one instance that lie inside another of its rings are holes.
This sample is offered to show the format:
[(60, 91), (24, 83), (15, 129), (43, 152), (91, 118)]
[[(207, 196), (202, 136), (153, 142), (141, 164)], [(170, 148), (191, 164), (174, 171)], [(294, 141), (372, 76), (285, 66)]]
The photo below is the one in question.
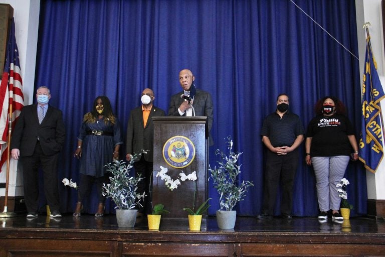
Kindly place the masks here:
[(193, 162), (195, 146), (191, 140), (183, 136), (175, 136), (163, 145), (163, 159), (171, 167), (184, 168)]

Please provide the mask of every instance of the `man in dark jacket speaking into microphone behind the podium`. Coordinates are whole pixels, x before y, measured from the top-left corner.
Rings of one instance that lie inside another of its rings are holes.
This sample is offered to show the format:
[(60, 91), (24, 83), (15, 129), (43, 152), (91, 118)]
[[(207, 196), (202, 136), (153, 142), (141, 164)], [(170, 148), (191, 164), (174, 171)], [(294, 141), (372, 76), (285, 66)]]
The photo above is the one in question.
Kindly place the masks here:
[[(195, 76), (190, 70), (183, 69), (179, 72), (179, 83), (183, 91), (171, 96), (168, 116), (207, 116), (210, 132), (214, 120), (213, 100), (209, 92), (196, 89), (194, 80)], [(213, 144), (214, 141), (209, 136), (209, 146)]]

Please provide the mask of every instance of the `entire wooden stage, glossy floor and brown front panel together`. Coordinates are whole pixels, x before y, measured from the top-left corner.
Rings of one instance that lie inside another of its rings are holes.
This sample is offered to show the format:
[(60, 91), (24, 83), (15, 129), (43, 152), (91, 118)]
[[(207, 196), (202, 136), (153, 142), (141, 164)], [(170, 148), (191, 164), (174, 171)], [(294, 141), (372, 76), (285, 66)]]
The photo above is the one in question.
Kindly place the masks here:
[(238, 216), (234, 230), (220, 230), (209, 216), (198, 232), (189, 231), (187, 221), (148, 230), (146, 217), (134, 228), (119, 228), (113, 214), (23, 215), (0, 224), (0, 256), (385, 256), (385, 221), (366, 217), (339, 224)]

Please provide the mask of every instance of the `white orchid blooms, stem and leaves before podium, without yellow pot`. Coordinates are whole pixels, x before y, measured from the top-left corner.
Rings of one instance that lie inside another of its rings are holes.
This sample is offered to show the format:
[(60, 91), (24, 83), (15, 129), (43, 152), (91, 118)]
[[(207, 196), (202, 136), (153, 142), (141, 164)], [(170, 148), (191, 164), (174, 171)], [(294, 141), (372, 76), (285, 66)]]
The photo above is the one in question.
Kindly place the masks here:
[(191, 180), (195, 182), (195, 190), (194, 190), (194, 203), (193, 209), (183, 208), (184, 211), (187, 211), (190, 215), (202, 215), (205, 211), (210, 207), (208, 204), (209, 199), (207, 199), (201, 206), (198, 207), (197, 211), (195, 211), (195, 203), (196, 203), (196, 194), (197, 194), (197, 172), (193, 171), (192, 173), (186, 175), (183, 171), (179, 173), (179, 177), (176, 179), (172, 179), (168, 174), (168, 169), (160, 166), (160, 171), (156, 174), (156, 177), (160, 177), (161, 180), (164, 180), (164, 184), (171, 191), (178, 188), (180, 185), (180, 181)]

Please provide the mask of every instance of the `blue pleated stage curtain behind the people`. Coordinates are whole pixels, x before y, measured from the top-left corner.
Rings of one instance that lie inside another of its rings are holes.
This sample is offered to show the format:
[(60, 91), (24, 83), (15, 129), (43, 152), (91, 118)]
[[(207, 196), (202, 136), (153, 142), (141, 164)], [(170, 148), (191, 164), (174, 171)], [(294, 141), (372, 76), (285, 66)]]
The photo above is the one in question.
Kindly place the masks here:
[[(73, 158), (84, 113), (98, 95), (106, 95), (121, 122), (123, 135), (130, 110), (140, 104), (144, 88), (152, 88), (154, 104), (166, 112), (170, 96), (181, 90), (178, 72), (189, 68), (196, 86), (214, 101), (210, 164), (216, 149), (226, 151), (225, 137), (243, 152), (241, 180), (255, 184), (238, 215), (254, 216), (263, 201), (264, 117), (287, 93), (290, 110), (305, 129), (314, 104), (325, 95), (340, 98), (355, 124), (360, 118), (360, 79), (354, 1), (293, 1), (346, 49), (287, 0), (46, 0), (41, 2), (35, 87), (52, 90), (50, 103), (63, 110), (67, 141), (59, 178), (78, 181)], [(364, 39), (362, 39), (364, 40)], [(355, 56), (353, 56), (355, 55)], [(124, 158), (125, 146), (120, 156)], [(314, 172), (306, 166), (304, 144), (294, 186), (293, 215), (318, 213)], [(185, 170), (188, 172), (188, 170)], [(348, 200), (353, 215), (366, 213), (366, 178), (361, 163), (351, 163)], [(178, 190), (175, 190), (177, 193)], [(95, 189), (94, 189), (95, 192)], [(60, 185), (61, 211), (72, 212), (74, 189)], [(209, 180), (210, 214), (219, 196)], [(279, 213), (280, 199), (277, 199)], [(86, 211), (96, 211), (93, 195)], [(106, 212), (114, 205), (107, 200)]]

